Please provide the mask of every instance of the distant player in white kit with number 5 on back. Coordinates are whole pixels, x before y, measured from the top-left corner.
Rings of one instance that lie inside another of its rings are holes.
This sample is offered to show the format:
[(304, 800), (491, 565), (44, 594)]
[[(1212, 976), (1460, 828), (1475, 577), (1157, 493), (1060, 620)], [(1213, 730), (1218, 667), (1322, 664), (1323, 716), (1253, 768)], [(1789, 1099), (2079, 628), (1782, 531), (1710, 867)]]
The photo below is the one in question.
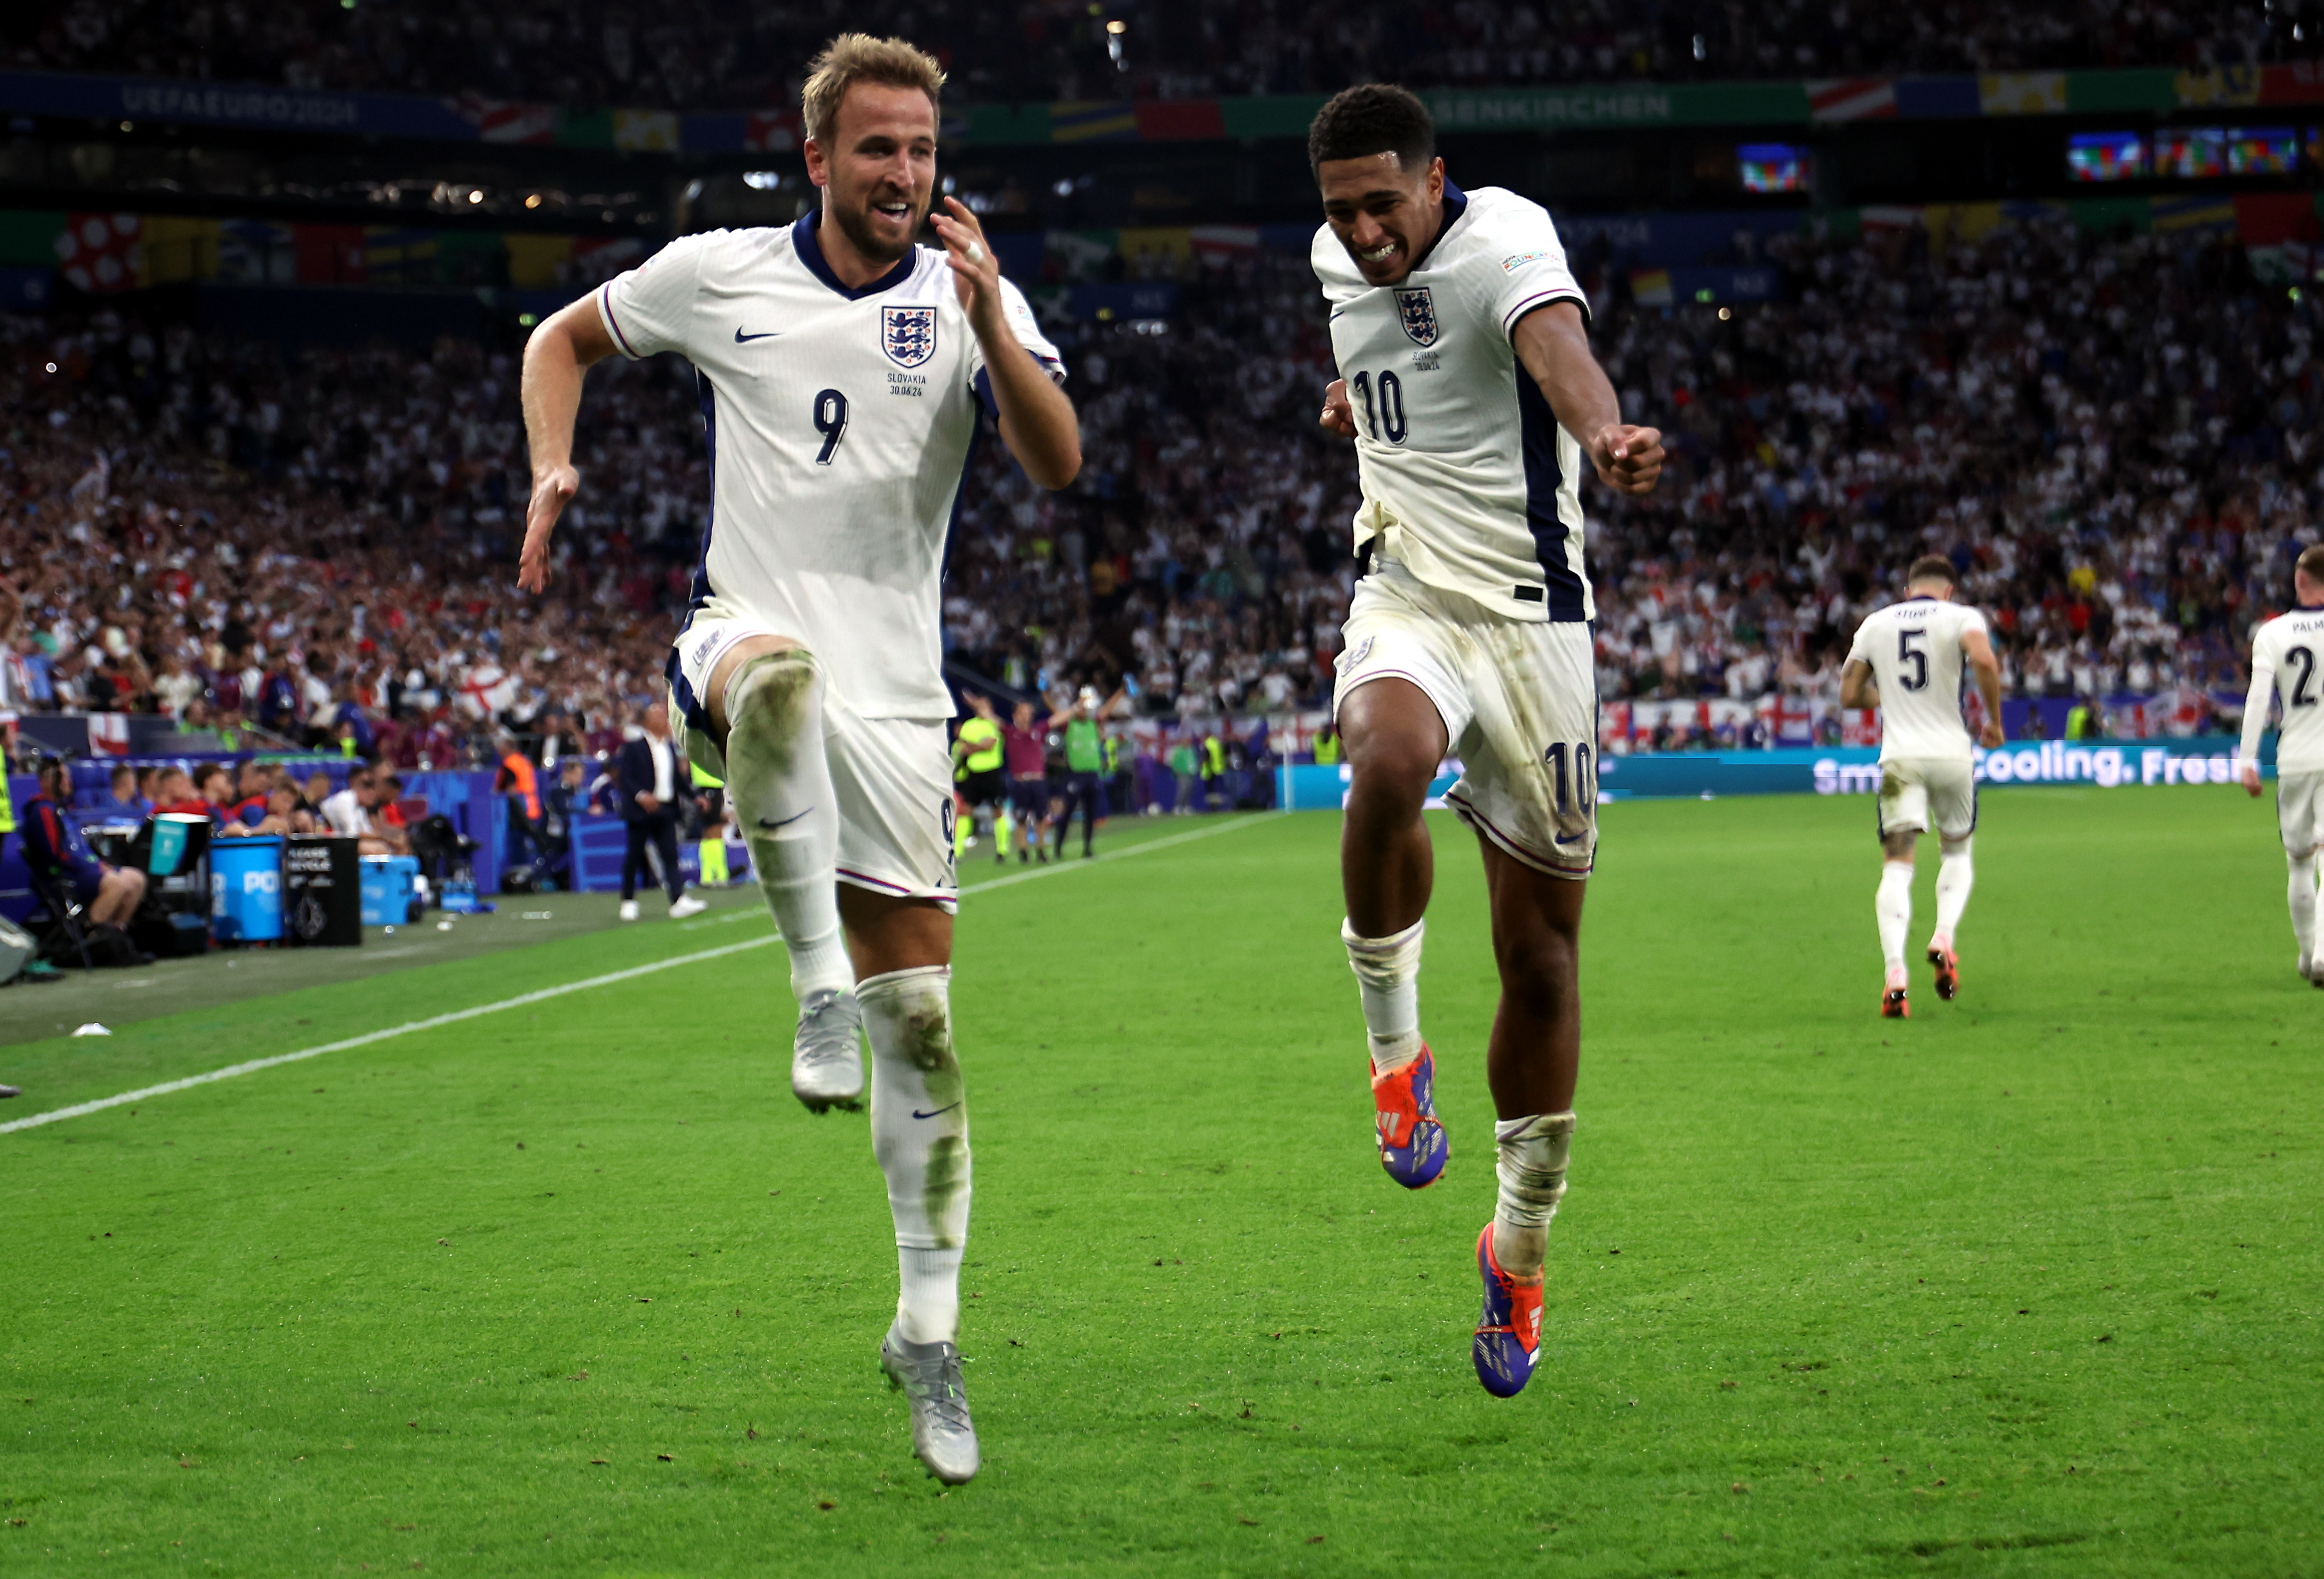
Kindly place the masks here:
[(1952, 601), (1952, 562), (1936, 555), (1913, 560), (1901, 604), (1864, 615), (1841, 669), (1843, 708), (1880, 708), (1880, 887), (1873, 915), (1880, 922), (1880, 957), (1887, 975), (1880, 1012), (1910, 1019), (1903, 936), (1913, 927), (1913, 850), (1936, 829), (1936, 933), (1929, 964), (1936, 996), (1961, 989), (1961, 959), (1952, 931), (1968, 906), (1975, 868), (1968, 864), (1978, 831), (1975, 752), (1961, 722), (1961, 664), (1978, 676), (1985, 722), (1978, 743), (2001, 745), (2001, 664), (1985, 634), (1985, 615)]

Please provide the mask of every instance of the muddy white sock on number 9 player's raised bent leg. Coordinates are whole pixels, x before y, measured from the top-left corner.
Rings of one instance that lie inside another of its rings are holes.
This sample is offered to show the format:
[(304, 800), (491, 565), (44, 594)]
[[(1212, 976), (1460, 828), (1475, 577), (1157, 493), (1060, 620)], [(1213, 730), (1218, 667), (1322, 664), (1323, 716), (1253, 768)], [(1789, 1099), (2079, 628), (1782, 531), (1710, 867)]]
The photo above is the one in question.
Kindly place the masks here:
[(823, 669), (806, 648), (769, 652), (725, 690), (727, 799), (751, 871), (790, 950), (790, 992), (855, 985), (839, 933), (839, 796), (823, 750)]

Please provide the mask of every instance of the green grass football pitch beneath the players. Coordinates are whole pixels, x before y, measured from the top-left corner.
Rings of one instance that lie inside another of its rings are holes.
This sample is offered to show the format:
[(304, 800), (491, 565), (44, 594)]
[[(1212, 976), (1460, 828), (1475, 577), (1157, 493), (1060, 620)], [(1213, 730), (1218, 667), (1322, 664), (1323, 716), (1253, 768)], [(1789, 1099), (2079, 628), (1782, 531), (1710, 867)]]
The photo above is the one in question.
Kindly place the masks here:
[[(790, 1098), (781, 947), (739, 947), (0, 1135), (0, 1570), (2324, 1572), (2324, 994), (2271, 808), (1987, 794), (1964, 996), (1917, 968), (1906, 1024), (1871, 820), (1606, 808), (1515, 1400), (1469, 1370), (1469, 836), (1434, 824), (1452, 1166), (1413, 1196), (1371, 1149), (1336, 817), (1132, 820), (964, 903), (971, 1486), (876, 1372), (865, 1119)], [(767, 933), (23, 1043), (0, 1119)]]

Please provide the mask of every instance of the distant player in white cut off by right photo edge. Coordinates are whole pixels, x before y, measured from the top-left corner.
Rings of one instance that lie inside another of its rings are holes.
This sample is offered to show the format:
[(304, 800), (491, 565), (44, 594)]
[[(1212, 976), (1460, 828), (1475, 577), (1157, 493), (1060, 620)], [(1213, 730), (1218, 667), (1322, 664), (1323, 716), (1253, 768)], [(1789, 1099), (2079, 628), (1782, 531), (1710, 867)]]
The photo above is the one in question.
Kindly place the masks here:
[(2243, 787), (2259, 794), (2259, 736), (2268, 704), (2284, 699), (2275, 727), (2275, 822), (2291, 866), (2291, 936), (2301, 943), (2301, 975), (2324, 987), (2317, 959), (2317, 848), (2324, 845), (2324, 543), (2301, 550), (2291, 567), (2301, 606), (2252, 632), (2252, 692), (2243, 699), (2243, 748), (2236, 752)]

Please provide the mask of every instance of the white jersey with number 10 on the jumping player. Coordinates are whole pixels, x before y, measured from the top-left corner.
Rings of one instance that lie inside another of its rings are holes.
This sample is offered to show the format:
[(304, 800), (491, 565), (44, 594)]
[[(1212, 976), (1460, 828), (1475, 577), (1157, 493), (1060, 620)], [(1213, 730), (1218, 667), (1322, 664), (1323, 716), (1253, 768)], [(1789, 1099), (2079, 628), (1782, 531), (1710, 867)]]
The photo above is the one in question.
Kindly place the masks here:
[(1397, 286), (1369, 286), (1315, 232), (1332, 358), (1355, 406), (1364, 504), (1355, 546), (1513, 620), (1592, 620), (1580, 444), (1518, 365), (1511, 330), (1550, 302), (1590, 311), (1548, 209), (1446, 181), (1436, 241)]

